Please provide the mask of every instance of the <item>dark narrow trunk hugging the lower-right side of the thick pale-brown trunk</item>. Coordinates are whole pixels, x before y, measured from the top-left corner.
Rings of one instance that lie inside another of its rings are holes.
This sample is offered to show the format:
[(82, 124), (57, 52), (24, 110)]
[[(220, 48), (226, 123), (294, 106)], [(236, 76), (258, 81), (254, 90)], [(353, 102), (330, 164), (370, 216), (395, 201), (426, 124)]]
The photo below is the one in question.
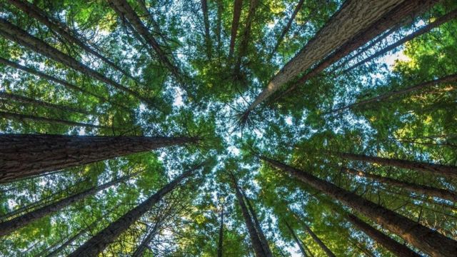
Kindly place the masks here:
[(436, 4), (438, 0), (406, 0), (402, 4), (399, 4), (395, 9), (389, 11), (386, 15), (378, 19), (373, 25), (369, 26), (368, 29), (361, 31), (357, 34), (351, 41), (348, 41), (346, 44), (343, 44), (338, 48), (333, 54), (327, 56), (323, 61), (321, 61), (316, 67), (314, 67), (307, 74), (301, 76), (298, 81), (289, 86), (286, 91), (281, 93), (280, 96), (276, 97), (274, 101), (280, 99), (282, 96), (290, 93), (298, 86), (303, 85), (305, 81), (313, 78), (321, 71), (326, 69), (331, 64), (334, 64), (336, 61), (342, 59), (344, 56), (350, 54), (352, 51), (355, 51), (359, 47), (368, 43), (371, 39), (379, 34), (382, 34), (384, 31), (398, 26), (398, 24), (404, 24), (406, 21), (413, 21), (415, 16), (422, 14), (424, 11), (429, 9), (433, 4)]

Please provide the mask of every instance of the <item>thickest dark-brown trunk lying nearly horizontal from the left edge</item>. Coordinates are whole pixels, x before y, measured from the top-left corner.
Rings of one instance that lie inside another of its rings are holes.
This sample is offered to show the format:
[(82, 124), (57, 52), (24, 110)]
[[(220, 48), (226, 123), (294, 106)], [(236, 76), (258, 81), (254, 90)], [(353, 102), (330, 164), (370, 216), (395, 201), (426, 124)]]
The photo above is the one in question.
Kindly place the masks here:
[(0, 134), (0, 182), (197, 140), (187, 137)]

